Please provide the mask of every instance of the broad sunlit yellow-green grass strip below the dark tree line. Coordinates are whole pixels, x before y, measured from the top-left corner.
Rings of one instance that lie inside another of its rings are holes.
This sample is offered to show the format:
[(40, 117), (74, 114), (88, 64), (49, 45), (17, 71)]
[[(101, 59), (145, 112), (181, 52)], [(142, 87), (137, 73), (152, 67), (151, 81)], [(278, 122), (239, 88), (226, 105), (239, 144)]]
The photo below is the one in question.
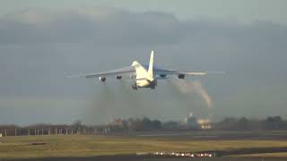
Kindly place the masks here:
[[(22, 136), (2, 138), (0, 158), (91, 157), (153, 151), (201, 151), (228, 148), (287, 147), (287, 140), (184, 140), (114, 136)], [(31, 145), (45, 142), (45, 145)]]

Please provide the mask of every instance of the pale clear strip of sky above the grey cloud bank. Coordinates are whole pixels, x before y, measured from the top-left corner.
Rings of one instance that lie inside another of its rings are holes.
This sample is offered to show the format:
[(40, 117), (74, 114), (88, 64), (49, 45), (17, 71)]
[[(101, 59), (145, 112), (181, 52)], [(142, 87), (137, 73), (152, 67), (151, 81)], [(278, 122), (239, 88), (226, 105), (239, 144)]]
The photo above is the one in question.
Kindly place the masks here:
[(218, 18), (233, 21), (274, 21), (287, 23), (285, 0), (1, 0), (0, 14), (13, 13), (23, 8), (40, 7), (48, 9), (92, 8), (94, 6), (117, 7), (133, 12), (167, 12), (179, 19)]

